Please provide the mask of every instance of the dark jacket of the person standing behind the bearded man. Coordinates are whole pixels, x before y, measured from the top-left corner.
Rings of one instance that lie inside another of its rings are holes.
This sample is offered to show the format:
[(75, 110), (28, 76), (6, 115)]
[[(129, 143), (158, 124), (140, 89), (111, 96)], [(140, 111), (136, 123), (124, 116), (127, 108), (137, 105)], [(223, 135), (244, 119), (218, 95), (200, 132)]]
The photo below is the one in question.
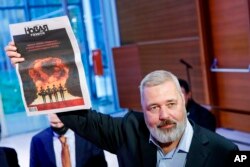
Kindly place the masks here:
[(190, 99), (187, 103), (187, 112), (189, 119), (193, 120), (196, 124), (215, 132), (215, 116), (206, 108), (196, 103), (193, 99)]

